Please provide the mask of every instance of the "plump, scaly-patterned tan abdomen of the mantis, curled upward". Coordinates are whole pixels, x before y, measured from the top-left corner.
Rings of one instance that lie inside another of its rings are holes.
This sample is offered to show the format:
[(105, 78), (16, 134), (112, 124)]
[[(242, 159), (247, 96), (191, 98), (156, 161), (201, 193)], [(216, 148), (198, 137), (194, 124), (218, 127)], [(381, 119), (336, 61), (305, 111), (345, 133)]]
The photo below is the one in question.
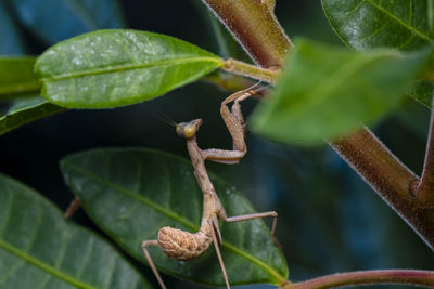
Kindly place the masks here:
[(209, 247), (213, 238), (202, 231), (192, 234), (166, 226), (158, 231), (157, 241), (163, 252), (168, 257), (176, 260), (188, 261), (203, 254)]

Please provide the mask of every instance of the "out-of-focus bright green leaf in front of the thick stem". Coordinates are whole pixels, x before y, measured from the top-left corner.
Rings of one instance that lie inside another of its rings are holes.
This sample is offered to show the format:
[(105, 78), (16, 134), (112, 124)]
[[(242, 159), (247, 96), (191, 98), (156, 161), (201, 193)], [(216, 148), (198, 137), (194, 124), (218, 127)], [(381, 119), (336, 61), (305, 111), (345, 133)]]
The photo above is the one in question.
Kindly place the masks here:
[(362, 53), (299, 39), (252, 128), (280, 142), (315, 145), (372, 123), (401, 102), (431, 50)]

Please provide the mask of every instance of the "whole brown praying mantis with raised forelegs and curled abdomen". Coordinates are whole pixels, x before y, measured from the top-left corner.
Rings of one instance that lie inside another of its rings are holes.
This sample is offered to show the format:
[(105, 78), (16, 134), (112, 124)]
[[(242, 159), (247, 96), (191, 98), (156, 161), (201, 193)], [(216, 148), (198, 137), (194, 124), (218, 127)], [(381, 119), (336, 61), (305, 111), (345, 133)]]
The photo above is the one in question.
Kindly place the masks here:
[[(205, 169), (205, 160), (221, 163), (237, 163), (246, 154), (247, 148), (244, 141), (244, 120), (241, 114), (240, 102), (257, 93), (258, 91), (256, 90), (240, 91), (230, 95), (221, 103), (220, 114), (233, 139), (233, 150), (216, 148), (202, 150), (199, 147), (195, 137), (195, 134), (202, 124), (202, 119), (181, 122), (177, 126), (178, 135), (187, 139), (187, 147), (191, 162), (194, 167), (194, 175), (201, 191), (203, 192), (203, 214), (201, 227), (197, 233), (192, 234), (166, 226), (158, 231), (158, 237), (156, 240), (143, 241), (143, 253), (162, 288), (166, 288), (166, 286), (164, 285), (163, 279), (148, 252), (148, 246), (159, 246), (168, 257), (176, 260), (188, 261), (199, 258), (203, 252), (205, 252), (209, 245), (214, 242), (227, 288), (230, 288), (220, 252), (221, 235), (218, 228), (218, 218), (225, 222), (239, 222), (272, 216), (273, 223), (271, 235), (275, 233), (277, 222), (277, 213), (275, 211), (228, 218)], [(231, 110), (229, 110), (227, 106), (230, 102), (234, 102)]]

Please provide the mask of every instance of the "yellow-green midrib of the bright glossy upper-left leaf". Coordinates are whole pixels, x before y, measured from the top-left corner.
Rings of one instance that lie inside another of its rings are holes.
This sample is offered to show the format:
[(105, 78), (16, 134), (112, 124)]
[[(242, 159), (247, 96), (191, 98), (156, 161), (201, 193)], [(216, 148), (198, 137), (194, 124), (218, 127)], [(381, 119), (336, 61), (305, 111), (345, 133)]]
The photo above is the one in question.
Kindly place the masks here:
[(184, 64), (190, 62), (215, 62), (221, 64), (220, 58), (215, 57), (184, 57), (184, 58), (176, 58), (176, 60), (165, 60), (165, 61), (157, 61), (152, 63), (136, 63), (136, 64), (127, 64), (127, 65), (114, 65), (112, 67), (102, 67), (98, 69), (89, 69), (84, 71), (74, 71), (67, 74), (60, 74), (51, 77), (43, 77), (41, 80), (43, 82), (50, 81), (59, 81), (63, 79), (69, 78), (80, 78), (86, 76), (94, 76), (94, 75), (102, 75), (102, 74), (111, 74), (116, 71), (124, 71), (124, 70), (133, 70), (140, 68), (148, 68), (154, 66), (166, 66), (166, 65), (177, 65), (177, 64)]

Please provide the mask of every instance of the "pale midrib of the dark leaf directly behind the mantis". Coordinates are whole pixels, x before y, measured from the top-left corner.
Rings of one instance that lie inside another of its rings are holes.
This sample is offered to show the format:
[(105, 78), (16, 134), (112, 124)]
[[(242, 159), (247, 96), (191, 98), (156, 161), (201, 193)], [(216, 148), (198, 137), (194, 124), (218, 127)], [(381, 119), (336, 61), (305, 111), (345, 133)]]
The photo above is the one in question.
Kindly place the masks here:
[[(84, 169), (81, 169), (81, 168), (79, 168), (77, 166), (74, 166), (74, 165), (71, 165), (71, 163), (67, 163), (67, 162), (65, 162), (65, 165), (67, 167), (69, 167), (71, 169), (76, 170), (79, 173), (84, 173), (84, 174), (86, 174), (86, 175), (88, 175), (90, 178), (93, 178), (95, 181), (100, 181), (101, 183), (103, 183), (103, 184), (105, 184), (107, 186), (112, 186), (113, 188), (118, 189), (119, 192), (126, 194), (127, 196), (130, 196), (130, 197), (137, 199), (138, 201), (142, 201), (143, 203), (148, 205), (149, 207), (151, 207), (151, 208), (153, 208), (153, 209), (166, 214), (167, 216), (171, 218), (173, 220), (176, 220), (176, 221), (182, 223), (183, 225), (189, 227), (191, 231), (197, 231), (199, 229), (199, 226), (194, 225), (192, 222), (186, 220), (184, 218), (182, 218), (182, 216), (180, 216), (178, 214), (175, 214), (175, 213), (166, 210), (165, 208), (152, 202), (148, 198), (144, 198), (144, 197), (141, 197), (141, 196), (140, 197), (137, 196), (137, 194), (135, 192), (129, 192), (128, 189), (125, 189), (124, 187), (122, 187), (119, 185), (116, 185), (116, 184), (114, 184), (114, 183), (112, 183), (110, 181), (106, 181), (106, 180), (102, 179), (101, 176), (99, 176), (99, 175), (97, 175), (97, 174), (94, 174), (94, 173), (92, 173), (92, 172), (90, 172), (88, 170), (84, 170)], [(280, 283), (286, 281), (285, 277), (281, 276), (279, 274), (279, 272), (277, 272), (272, 267), (268, 266), (265, 262), (260, 261), (259, 259), (251, 255), (248, 252), (240, 250), (235, 246), (233, 246), (233, 245), (231, 245), (231, 244), (229, 244), (229, 242), (227, 242), (225, 240), (221, 242), (221, 246), (226, 247), (228, 250), (233, 251), (234, 253), (239, 254), (240, 257), (242, 257), (242, 258), (244, 258), (246, 260), (250, 260), (252, 263), (255, 263), (259, 267), (263, 267), (271, 276), (276, 277)]]

